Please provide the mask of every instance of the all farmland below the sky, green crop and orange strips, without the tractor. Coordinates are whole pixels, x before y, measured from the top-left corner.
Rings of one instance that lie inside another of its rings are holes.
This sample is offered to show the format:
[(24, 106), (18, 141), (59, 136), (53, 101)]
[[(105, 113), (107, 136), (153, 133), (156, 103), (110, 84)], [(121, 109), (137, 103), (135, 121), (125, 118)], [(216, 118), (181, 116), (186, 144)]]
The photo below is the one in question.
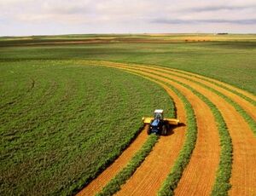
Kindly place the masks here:
[(1, 194), (255, 194), (255, 40), (2, 37)]

